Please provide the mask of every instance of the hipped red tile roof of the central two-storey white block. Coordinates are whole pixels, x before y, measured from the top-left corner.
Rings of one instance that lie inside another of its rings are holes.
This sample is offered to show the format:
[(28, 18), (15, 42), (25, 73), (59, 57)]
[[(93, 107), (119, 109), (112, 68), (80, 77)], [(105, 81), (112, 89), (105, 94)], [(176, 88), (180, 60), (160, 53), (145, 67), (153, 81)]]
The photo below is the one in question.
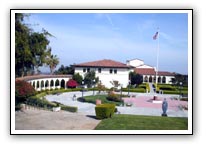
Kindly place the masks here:
[(109, 59), (103, 59), (98, 61), (92, 61), (92, 62), (86, 62), (86, 63), (80, 63), (74, 65), (75, 67), (112, 67), (112, 68), (132, 68), (131, 66), (127, 66), (124, 63), (109, 60)]

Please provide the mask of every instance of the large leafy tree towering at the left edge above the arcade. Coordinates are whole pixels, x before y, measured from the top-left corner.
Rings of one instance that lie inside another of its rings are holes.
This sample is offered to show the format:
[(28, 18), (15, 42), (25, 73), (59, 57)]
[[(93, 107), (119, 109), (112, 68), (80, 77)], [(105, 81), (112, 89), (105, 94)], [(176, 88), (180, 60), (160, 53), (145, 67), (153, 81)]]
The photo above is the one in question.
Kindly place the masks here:
[(46, 63), (47, 56), (51, 55), (48, 37), (52, 35), (45, 29), (34, 32), (24, 23), (28, 15), (15, 14), (15, 76), (24, 76)]

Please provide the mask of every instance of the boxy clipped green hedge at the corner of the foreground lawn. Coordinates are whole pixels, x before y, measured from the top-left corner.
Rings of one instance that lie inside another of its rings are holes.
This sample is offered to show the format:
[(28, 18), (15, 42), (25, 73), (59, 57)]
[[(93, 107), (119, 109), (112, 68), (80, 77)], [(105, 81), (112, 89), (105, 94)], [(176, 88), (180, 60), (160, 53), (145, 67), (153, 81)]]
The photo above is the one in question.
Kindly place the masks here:
[(95, 107), (96, 118), (111, 118), (115, 112), (115, 104), (100, 104)]

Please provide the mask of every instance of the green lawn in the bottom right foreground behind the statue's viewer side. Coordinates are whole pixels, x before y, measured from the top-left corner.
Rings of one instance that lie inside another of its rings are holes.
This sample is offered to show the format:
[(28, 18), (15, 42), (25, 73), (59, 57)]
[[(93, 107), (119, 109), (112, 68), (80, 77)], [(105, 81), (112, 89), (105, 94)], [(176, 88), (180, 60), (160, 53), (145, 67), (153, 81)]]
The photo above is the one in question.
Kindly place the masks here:
[(115, 114), (102, 120), (95, 130), (187, 130), (188, 119), (180, 117)]

